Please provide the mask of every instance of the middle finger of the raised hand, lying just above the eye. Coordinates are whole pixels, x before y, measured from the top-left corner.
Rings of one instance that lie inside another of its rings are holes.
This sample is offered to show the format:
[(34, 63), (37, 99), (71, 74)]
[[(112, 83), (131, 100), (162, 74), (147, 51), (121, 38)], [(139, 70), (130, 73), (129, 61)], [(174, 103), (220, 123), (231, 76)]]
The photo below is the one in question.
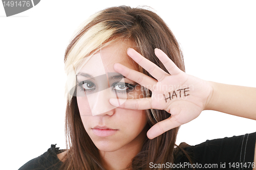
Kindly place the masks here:
[(153, 89), (153, 86), (157, 83), (155, 79), (144, 75), (142, 72), (125, 67), (120, 63), (115, 63), (114, 69), (127, 79), (135, 81), (141, 86), (150, 89), (151, 91)]

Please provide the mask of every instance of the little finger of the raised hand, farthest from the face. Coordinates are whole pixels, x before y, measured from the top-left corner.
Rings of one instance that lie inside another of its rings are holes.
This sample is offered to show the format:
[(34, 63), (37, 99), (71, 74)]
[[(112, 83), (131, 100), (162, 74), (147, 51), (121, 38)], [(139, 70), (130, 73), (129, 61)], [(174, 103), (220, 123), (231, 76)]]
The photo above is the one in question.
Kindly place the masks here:
[(159, 58), (159, 60), (163, 63), (165, 68), (168, 70), (170, 75), (176, 75), (181, 72), (179, 67), (160, 49), (155, 49), (155, 54)]

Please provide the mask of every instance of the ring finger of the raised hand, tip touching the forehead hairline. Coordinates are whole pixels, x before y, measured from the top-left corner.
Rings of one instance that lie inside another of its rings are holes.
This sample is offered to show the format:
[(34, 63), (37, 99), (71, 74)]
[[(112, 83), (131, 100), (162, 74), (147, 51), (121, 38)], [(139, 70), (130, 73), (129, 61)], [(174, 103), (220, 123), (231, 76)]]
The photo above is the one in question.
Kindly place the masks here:
[(156, 64), (147, 60), (145, 57), (136, 52), (133, 48), (127, 50), (127, 54), (140, 66), (142, 66), (151, 76), (161, 81), (165, 76), (169, 76), (167, 72), (159, 68)]

